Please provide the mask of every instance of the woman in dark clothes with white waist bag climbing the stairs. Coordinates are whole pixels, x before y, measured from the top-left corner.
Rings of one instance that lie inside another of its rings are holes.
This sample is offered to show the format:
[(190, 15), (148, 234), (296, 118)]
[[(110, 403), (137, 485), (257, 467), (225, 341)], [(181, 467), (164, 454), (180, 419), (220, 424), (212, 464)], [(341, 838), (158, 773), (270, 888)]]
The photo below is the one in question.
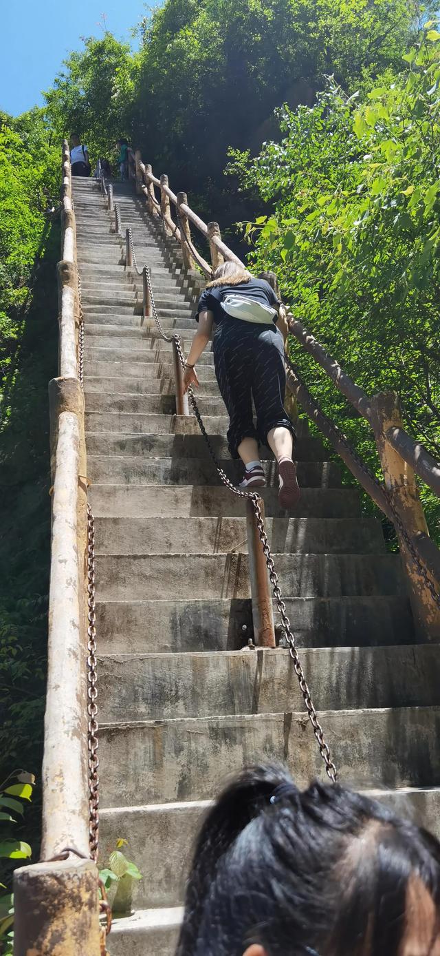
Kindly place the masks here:
[[(263, 279), (244, 267), (225, 262), (199, 299), (199, 329), (186, 362), (184, 384), (199, 386), (195, 365), (213, 326), (214, 366), (230, 424), (228, 445), (244, 464), (242, 489), (265, 485), (259, 442), (269, 445), (277, 462), (279, 502), (283, 509), (298, 503), (300, 489), (292, 461), (294, 427), (283, 407), (285, 368), (281, 302)], [(253, 421), (252, 399), (257, 412)]]

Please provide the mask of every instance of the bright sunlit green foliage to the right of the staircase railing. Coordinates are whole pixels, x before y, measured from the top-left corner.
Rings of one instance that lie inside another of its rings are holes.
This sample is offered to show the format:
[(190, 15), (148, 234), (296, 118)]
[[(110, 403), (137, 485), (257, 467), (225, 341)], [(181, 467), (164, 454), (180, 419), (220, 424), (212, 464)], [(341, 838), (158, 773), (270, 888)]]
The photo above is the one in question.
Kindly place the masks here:
[[(432, 23), (404, 59), (406, 68), (386, 72), (362, 101), (332, 81), (312, 108), (284, 107), (283, 140), (253, 161), (234, 154), (231, 171), (273, 204), (245, 228), (254, 266), (279, 273), (306, 327), (369, 394), (398, 391), (410, 432), (438, 456), (440, 33)], [(341, 421), (346, 406), (292, 347)], [(365, 434), (355, 422), (351, 430)]]

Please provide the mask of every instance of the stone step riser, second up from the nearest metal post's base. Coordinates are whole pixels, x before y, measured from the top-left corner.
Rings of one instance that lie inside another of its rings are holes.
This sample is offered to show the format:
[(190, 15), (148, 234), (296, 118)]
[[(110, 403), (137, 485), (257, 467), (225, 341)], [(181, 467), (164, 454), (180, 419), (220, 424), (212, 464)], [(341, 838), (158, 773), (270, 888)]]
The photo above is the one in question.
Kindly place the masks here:
[[(288, 597), (405, 594), (399, 554), (272, 554)], [(101, 554), (98, 600), (249, 597), (247, 554)]]

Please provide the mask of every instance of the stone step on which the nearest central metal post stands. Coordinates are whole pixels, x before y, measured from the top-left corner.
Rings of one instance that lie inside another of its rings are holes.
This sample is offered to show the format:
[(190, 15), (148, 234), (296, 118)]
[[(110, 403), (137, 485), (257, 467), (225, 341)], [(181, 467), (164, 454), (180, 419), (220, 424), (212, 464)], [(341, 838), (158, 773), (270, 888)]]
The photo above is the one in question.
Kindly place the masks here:
[[(303, 649), (301, 663), (320, 710), (439, 706), (438, 649)], [(99, 656), (104, 724), (300, 711), (303, 695), (288, 650)]]

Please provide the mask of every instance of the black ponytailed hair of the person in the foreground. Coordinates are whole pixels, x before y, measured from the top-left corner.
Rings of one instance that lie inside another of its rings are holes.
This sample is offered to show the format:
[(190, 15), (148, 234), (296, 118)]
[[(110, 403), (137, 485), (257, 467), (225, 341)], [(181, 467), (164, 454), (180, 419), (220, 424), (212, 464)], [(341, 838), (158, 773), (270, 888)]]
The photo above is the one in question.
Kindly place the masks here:
[(397, 956), (415, 879), (437, 931), (434, 836), (339, 784), (301, 793), (283, 767), (252, 767), (201, 826), (176, 956), (242, 956), (252, 943), (268, 956)]

